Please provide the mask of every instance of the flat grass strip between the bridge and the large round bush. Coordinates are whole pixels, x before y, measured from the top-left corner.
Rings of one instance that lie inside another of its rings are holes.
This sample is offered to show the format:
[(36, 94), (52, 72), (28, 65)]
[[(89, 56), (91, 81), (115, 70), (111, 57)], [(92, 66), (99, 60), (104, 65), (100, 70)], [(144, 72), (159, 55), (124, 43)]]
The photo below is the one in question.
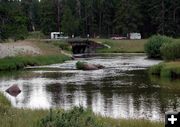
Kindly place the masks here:
[(111, 48), (99, 49), (98, 53), (144, 53), (147, 40), (95, 39), (95, 41), (111, 46)]

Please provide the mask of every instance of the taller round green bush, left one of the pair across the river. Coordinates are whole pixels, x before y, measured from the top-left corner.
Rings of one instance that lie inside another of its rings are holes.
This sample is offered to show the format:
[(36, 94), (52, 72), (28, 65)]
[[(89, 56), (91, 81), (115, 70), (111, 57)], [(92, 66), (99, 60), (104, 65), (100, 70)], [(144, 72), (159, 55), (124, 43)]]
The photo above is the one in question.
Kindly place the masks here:
[(145, 52), (149, 58), (161, 58), (160, 48), (164, 43), (171, 43), (172, 38), (155, 35), (152, 36), (145, 44)]

